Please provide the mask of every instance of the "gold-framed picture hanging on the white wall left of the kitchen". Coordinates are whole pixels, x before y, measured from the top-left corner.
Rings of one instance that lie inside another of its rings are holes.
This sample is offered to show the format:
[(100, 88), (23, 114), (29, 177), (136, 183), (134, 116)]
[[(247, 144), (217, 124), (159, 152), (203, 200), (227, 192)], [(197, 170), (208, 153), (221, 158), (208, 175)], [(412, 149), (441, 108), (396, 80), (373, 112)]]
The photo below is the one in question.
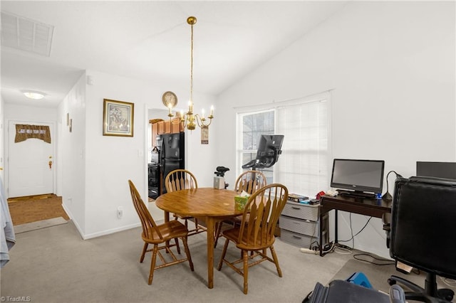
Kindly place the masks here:
[(103, 136), (133, 137), (135, 104), (103, 99)]

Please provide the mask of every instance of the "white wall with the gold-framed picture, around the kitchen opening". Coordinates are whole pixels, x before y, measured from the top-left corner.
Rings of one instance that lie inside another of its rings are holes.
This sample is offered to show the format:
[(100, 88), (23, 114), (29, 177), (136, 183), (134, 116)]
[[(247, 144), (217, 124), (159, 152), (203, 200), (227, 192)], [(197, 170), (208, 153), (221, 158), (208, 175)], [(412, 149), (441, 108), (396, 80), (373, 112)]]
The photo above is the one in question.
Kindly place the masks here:
[[(86, 85), (86, 75), (90, 75), (93, 85)], [(59, 107), (59, 115), (66, 117), (69, 112), (73, 117), (73, 132), (66, 127), (62, 132), (66, 137), (63, 200), (83, 238), (93, 238), (139, 225), (127, 181), (131, 179), (147, 198), (148, 112), (164, 108), (161, 96), (168, 89), (93, 70), (86, 71), (86, 75)], [(182, 99), (188, 94), (186, 90), (174, 91)], [(195, 108), (208, 109), (214, 100), (209, 95), (194, 95)], [(103, 136), (103, 99), (135, 104), (133, 137)], [(186, 136), (186, 168), (195, 173), (200, 186), (212, 186), (213, 144), (199, 143), (199, 129), (187, 131)], [(209, 141), (212, 137), (209, 135)], [(121, 219), (116, 216), (119, 206), (123, 208)], [(151, 208), (152, 216), (161, 220), (163, 212)]]

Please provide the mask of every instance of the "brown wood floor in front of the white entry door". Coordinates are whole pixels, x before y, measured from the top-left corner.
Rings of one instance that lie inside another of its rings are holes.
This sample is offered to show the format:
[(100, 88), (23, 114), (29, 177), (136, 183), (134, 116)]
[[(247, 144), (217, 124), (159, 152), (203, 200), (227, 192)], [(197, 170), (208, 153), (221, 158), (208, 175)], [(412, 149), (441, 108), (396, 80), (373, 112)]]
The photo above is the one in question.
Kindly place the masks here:
[(8, 199), (13, 225), (62, 217), (70, 220), (62, 207), (62, 197), (49, 194)]

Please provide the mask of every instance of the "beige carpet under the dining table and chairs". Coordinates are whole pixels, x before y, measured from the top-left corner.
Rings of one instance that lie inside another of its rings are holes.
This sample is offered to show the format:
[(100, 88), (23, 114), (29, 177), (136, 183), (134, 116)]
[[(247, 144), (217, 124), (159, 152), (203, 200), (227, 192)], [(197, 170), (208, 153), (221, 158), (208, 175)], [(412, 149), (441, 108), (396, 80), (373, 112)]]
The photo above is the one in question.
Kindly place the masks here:
[[(351, 257), (302, 253), (278, 238), (274, 248), (283, 277), (271, 262), (251, 267), (245, 295), (237, 272), (226, 265), (216, 268), (223, 241), (214, 250), (214, 288), (207, 288), (207, 234), (199, 233), (188, 239), (195, 271), (187, 263), (160, 268), (147, 285), (151, 255), (139, 262), (141, 233), (141, 228), (132, 228), (83, 240), (71, 220), (20, 233), (10, 262), (1, 269), (1, 296), (29, 296), (33, 303), (297, 303), (316, 282), (326, 285)], [(227, 253), (239, 256), (232, 244)]]

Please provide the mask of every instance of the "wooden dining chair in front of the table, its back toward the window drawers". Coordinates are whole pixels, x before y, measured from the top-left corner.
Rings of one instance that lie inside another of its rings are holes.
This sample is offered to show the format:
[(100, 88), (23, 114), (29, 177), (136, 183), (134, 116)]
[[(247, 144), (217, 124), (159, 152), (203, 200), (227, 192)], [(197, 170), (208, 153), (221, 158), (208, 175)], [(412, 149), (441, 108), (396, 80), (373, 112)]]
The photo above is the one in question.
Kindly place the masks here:
[[(249, 267), (268, 260), (276, 265), (279, 277), (282, 276), (274, 250), (276, 240), (274, 230), (287, 199), (288, 189), (284, 185), (270, 184), (260, 188), (247, 201), (241, 224), (222, 232), (227, 240), (225, 240), (217, 270), (222, 270), (222, 265), (225, 263), (239, 275), (244, 276), (244, 294), (247, 294), (248, 290)], [(230, 241), (241, 250), (240, 259), (232, 261), (226, 259)], [(267, 255), (268, 248), (272, 258)], [(249, 252), (252, 253), (249, 254)]]

